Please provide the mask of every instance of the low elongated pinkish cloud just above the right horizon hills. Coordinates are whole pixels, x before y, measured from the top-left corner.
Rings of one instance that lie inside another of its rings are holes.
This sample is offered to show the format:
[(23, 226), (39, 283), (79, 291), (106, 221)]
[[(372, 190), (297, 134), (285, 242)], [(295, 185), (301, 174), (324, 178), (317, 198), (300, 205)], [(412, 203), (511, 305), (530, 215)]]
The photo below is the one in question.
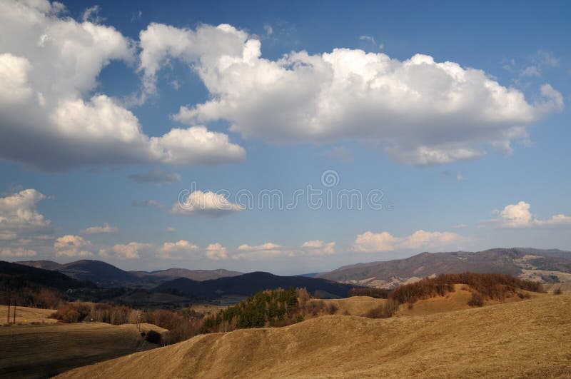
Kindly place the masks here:
[(375, 253), (403, 249), (440, 248), (463, 241), (463, 237), (450, 232), (415, 231), (407, 237), (395, 237), (384, 231), (373, 233), (366, 231), (358, 234), (353, 243), (353, 251)]

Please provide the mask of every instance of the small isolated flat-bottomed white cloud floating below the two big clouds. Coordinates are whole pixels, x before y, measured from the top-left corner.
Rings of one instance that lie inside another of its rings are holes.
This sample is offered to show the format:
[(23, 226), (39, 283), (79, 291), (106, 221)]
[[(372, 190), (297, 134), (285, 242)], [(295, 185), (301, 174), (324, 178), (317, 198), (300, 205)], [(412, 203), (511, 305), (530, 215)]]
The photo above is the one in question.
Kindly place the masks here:
[(173, 215), (195, 216), (222, 216), (228, 213), (243, 211), (243, 207), (231, 203), (222, 194), (211, 191), (193, 191), (180, 203), (173, 204)]

